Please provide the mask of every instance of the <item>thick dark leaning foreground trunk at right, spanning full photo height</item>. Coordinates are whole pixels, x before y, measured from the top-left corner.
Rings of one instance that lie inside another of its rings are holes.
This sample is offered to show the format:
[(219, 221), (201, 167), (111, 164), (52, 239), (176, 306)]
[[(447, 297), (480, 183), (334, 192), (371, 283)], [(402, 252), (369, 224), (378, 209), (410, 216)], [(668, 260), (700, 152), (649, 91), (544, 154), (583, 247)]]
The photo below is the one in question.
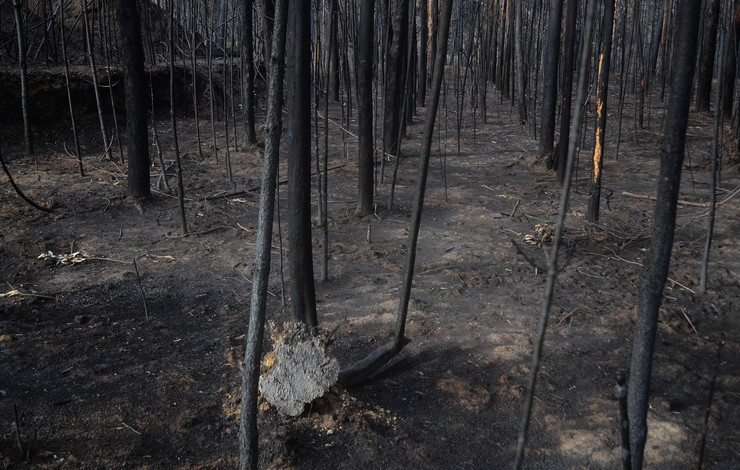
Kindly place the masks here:
[(691, 85), (696, 59), (696, 37), (701, 10), (700, 0), (681, 0), (673, 54), (671, 95), (666, 109), (666, 123), (661, 149), (658, 200), (650, 250), (645, 261), (638, 294), (637, 323), (632, 342), (632, 359), (627, 391), (630, 422), (632, 468), (640, 470), (647, 439), (647, 410), (653, 351), (663, 288), (668, 277), (676, 202), (681, 182)]

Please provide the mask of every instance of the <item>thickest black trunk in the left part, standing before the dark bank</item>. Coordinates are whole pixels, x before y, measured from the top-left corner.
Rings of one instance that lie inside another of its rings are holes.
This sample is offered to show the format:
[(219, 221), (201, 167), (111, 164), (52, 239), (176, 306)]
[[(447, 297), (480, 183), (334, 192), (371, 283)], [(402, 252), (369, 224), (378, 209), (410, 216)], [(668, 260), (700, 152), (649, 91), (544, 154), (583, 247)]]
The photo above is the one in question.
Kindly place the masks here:
[(116, 2), (123, 46), (128, 137), (128, 193), (137, 198), (150, 198), (148, 99), (144, 72), (144, 46), (141, 41), (141, 18), (137, 3), (136, 0)]

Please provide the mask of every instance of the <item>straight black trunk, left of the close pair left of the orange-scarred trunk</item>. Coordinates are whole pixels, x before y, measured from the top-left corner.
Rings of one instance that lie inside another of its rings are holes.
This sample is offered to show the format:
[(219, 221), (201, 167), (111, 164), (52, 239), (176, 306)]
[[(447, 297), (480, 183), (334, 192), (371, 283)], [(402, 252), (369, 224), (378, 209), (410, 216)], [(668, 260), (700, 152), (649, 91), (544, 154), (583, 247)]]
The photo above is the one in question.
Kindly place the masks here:
[(563, 0), (550, 0), (550, 22), (545, 45), (545, 68), (542, 79), (542, 124), (540, 125), (540, 158), (552, 154), (555, 141), (555, 112), (558, 99), (558, 57), (560, 57), (560, 23)]

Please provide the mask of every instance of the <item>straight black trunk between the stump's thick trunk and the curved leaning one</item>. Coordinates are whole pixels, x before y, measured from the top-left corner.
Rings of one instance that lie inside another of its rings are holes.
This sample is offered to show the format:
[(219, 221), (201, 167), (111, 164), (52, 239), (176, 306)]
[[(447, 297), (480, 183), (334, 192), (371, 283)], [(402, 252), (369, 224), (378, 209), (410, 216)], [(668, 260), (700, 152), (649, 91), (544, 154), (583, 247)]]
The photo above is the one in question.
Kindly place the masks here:
[(374, 158), (373, 158), (373, 31), (372, 0), (360, 3), (359, 71), (357, 73), (357, 134), (359, 137), (357, 159), (359, 163), (357, 214), (373, 212)]

